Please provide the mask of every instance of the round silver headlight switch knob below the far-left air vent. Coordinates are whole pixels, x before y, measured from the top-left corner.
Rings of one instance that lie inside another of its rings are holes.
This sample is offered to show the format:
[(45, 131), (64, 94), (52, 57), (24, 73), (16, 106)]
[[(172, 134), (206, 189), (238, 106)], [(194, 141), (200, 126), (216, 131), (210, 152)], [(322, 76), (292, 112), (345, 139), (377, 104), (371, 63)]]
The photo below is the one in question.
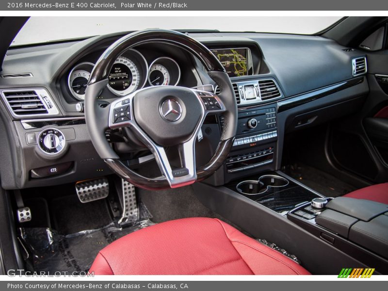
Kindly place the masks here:
[(65, 135), (58, 129), (45, 129), (39, 134), (38, 146), (49, 155), (61, 152), (65, 143)]

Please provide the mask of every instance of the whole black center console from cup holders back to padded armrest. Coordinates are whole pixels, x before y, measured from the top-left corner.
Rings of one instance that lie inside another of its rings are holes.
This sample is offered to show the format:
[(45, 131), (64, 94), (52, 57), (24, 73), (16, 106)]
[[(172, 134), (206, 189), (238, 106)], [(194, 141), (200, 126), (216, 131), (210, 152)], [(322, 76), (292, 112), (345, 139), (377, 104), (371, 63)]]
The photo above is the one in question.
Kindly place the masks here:
[(349, 267), (388, 274), (388, 205), (323, 197), (280, 171), (193, 187), (205, 206), (293, 254), (312, 274), (335, 275)]

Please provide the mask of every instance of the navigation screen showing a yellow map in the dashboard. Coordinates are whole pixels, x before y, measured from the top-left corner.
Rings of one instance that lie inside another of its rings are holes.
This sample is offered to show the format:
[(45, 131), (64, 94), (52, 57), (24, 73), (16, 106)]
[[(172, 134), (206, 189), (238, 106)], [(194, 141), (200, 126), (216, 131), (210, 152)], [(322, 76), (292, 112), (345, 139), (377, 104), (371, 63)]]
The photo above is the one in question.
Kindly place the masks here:
[(212, 49), (211, 52), (224, 66), (229, 77), (248, 75), (248, 49)]

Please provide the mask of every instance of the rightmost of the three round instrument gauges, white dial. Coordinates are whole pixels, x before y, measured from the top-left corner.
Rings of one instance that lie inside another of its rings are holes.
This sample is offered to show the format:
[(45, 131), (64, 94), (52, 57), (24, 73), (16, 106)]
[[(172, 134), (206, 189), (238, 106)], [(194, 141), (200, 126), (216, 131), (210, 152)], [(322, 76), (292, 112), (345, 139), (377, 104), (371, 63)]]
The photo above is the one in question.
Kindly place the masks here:
[(180, 68), (171, 58), (161, 57), (149, 67), (148, 83), (151, 86), (177, 85), (180, 79)]

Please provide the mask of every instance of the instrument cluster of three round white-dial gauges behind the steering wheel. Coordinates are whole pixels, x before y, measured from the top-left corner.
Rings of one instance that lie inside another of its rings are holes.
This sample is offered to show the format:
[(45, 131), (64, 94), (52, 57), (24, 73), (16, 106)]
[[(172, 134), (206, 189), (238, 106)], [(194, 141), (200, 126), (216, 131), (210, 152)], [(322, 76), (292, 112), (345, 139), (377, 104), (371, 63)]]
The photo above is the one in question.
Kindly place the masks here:
[[(91, 62), (79, 63), (70, 70), (67, 86), (73, 97), (85, 99), (85, 91), (94, 68)], [(180, 80), (178, 63), (167, 56), (151, 62), (136, 49), (128, 49), (117, 57), (108, 77), (107, 88), (115, 96), (125, 96), (147, 86), (176, 86)]]

